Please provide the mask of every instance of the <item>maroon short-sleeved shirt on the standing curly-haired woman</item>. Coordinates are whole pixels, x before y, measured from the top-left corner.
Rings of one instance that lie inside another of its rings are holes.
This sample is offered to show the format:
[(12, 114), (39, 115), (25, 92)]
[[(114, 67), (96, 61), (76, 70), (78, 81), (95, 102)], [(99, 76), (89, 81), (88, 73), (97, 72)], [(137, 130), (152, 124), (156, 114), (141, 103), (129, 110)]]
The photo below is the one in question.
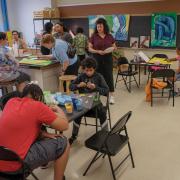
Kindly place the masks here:
[(99, 36), (99, 34), (93, 34), (89, 41), (95, 50), (102, 51), (112, 47), (112, 45), (115, 43), (115, 40), (111, 34), (106, 34), (104, 38)]

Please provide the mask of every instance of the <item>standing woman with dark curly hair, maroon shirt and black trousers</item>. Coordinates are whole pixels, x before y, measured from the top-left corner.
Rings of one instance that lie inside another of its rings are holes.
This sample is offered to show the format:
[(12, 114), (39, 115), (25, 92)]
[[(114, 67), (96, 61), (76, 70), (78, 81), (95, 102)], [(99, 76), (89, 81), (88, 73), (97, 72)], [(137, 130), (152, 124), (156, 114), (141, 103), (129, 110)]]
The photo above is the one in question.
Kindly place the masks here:
[[(112, 47), (112, 48), (110, 48)], [(110, 48), (110, 51), (104, 51)], [(89, 51), (93, 53), (98, 63), (97, 71), (101, 73), (106, 80), (110, 90), (110, 104), (114, 104), (114, 81), (113, 81), (113, 60), (112, 51), (116, 48), (115, 40), (109, 33), (109, 27), (104, 18), (96, 21), (93, 35), (89, 41)]]

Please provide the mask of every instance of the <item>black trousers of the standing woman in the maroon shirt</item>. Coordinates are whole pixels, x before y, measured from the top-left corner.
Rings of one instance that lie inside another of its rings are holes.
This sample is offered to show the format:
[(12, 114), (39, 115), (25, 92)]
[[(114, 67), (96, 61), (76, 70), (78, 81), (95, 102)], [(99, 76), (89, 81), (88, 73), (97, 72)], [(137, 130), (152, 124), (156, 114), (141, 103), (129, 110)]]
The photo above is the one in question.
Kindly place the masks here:
[(114, 80), (113, 80), (113, 59), (112, 54), (99, 55), (95, 54), (94, 58), (98, 63), (97, 72), (104, 77), (110, 92), (114, 92)]

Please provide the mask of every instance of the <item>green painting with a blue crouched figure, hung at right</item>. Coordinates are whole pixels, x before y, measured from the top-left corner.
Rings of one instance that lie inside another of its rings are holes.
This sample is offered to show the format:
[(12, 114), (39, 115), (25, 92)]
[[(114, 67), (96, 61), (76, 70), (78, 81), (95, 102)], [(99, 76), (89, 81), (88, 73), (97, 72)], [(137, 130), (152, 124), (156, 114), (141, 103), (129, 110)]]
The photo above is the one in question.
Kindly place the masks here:
[(151, 21), (151, 46), (176, 47), (177, 14), (156, 13)]

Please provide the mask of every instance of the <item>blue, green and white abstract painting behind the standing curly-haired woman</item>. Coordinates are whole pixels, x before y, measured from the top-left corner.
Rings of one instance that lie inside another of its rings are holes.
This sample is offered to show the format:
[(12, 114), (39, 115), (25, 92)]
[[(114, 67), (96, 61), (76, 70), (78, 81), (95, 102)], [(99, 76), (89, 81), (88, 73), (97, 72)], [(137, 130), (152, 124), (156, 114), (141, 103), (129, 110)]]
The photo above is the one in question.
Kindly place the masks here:
[(110, 33), (118, 41), (127, 41), (129, 32), (129, 15), (97, 15), (89, 16), (89, 36), (92, 35), (98, 18), (106, 19)]

